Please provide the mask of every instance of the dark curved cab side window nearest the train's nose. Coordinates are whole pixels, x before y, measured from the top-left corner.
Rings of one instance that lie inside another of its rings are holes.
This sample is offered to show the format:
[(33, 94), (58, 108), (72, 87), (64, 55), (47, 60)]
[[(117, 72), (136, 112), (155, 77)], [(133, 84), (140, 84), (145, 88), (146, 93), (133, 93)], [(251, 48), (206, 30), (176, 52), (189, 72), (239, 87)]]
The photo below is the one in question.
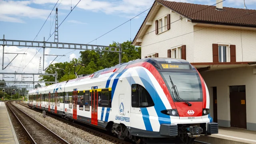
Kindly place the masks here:
[(139, 84), (132, 84), (132, 107), (145, 108), (154, 106), (154, 102), (148, 91)]

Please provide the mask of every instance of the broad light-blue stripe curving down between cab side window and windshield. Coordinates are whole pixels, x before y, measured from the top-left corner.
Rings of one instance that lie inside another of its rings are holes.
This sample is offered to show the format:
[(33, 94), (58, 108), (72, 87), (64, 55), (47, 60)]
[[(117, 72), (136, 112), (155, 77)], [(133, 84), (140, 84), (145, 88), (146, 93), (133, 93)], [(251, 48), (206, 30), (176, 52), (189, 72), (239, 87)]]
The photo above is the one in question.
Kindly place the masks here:
[(144, 70), (144, 68), (138, 68), (136, 69), (140, 76), (140, 80), (144, 84), (144, 87), (152, 97), (155, 104), (154, 108), (156, 110), (156, 114), (158, 116), (158, 121), (160, 124), (171, 124), (170, 116), (166, 114), (162, 114), (162, 110), (166, 110), (166, 107), (164, 106), (164, 103), (162, 102), (160, 96), (158, 95), (156, 89), (154, 88), (154, 85), (152, 84), (152, 81), (150, 80), (147, 72)]

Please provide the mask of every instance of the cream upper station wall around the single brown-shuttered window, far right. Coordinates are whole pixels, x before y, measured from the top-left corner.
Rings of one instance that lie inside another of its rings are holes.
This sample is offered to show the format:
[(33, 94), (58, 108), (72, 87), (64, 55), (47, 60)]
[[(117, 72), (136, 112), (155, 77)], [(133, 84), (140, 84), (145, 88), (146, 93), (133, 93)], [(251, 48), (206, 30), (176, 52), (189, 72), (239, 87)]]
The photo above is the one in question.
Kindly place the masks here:
[(236, 62), (256, 61), (256, 31), (242, 30), (242, 44), (239, 29), (195, 25), (194, 31), (194, 62), (212, 62), (212, 44), (236, 45)]

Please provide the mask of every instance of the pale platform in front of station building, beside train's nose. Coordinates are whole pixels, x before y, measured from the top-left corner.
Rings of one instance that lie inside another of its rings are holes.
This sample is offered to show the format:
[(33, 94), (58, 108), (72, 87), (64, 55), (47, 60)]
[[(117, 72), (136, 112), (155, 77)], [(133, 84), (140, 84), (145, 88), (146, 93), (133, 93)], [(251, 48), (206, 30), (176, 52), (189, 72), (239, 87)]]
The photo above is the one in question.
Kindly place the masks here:
[(210, 144), (256, 144), (256, 131), (219, 127), (218, 134), (200, 136), (196, 140)]

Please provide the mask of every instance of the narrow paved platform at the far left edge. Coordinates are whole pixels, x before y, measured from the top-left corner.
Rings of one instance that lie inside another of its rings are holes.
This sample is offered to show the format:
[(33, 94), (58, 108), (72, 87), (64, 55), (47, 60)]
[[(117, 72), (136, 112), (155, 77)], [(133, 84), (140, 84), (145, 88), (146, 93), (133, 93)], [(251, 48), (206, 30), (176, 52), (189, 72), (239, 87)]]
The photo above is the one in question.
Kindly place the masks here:
[(19, 144), (4, 102), (0, 102), (0, 144)]

